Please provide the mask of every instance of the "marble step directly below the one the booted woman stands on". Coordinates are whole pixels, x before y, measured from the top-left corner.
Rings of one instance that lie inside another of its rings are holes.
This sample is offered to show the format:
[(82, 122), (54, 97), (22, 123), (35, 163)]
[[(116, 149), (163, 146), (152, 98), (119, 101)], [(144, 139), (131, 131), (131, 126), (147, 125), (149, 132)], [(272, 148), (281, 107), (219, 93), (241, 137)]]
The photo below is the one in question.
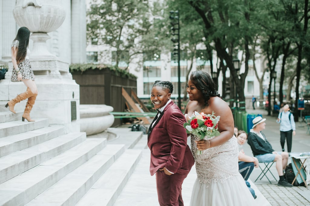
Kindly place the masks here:
[(64, 127), (52, 126), (0, 138), (0, 157), (65, 134)]

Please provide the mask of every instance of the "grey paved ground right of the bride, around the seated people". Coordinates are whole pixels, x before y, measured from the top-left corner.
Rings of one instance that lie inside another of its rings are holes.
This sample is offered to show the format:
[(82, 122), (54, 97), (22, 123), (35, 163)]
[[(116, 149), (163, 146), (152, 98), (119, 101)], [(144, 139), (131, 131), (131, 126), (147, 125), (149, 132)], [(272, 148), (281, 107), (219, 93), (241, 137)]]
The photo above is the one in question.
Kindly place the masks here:
[[(249, 114), (262, 114), (263, 118), (266, 118), (266, 129), (263, 130), (263, 133), (266, 135), (273, 149), (276, 151), (281, 151), (279, 131), (280, 125), (276, 123), (276, 117), (267, 116), (268, 112), (266, 110), (247, 109), (246, 111)], [(292, 152), (310, 151), (310, 134), (306, 134), (306, 132), (307, 125), (305, 123), (300, 124), (299, 122), (296, 122), (296, 135), (293, 136)], [(284, 148), (287, 151), (286, 144)], [(253, 155), (248, 144), (245, 144), (244, 151), (249, 156)], [(277, 180), (279, 180), (275, 164), (272, 165), (271, 171)], [(260, 169), (254, 168), (250, 176), (251, 180), (255, 181), (255, 179), (259, 176), (259, 173)], [(272, 180), (270, 176), (271, 175), (268, 175), (268, 178)], [(270, 184), (265, 177), (262, 180), (257, 180), (255, 185), (272, 206), (310, 205), (310, 185), (308, 188), (304, 186), (293, 186), (291, 188), (279, 187), (277, 186), (277, 181), (273, 180), (272, 184)]]

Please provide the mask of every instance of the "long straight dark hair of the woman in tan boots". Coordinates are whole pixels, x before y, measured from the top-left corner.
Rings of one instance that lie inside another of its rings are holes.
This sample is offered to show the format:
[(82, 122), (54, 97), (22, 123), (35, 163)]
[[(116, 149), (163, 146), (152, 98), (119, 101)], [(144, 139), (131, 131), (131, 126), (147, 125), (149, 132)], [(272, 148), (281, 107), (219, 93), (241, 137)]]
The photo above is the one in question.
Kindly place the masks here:
[(26, 58), (27, 55), (27, 48), (29, 44), (29, 37), (30, 37), (30, 31), (27, 27), (20, 27), (18, 29), (17, 35), (13, 42), (15, 40), (18, 40), (18, 50), (16, 54), (16, 62), (20, 63)]

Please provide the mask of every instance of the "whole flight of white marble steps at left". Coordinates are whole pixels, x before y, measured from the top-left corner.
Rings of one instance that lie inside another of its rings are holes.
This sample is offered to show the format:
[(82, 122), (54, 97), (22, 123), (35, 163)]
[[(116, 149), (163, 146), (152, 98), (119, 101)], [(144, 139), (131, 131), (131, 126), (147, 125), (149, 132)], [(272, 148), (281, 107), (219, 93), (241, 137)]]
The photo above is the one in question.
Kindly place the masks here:
[(0, 206), (115, 203), (142, 156), (142, 132), (111, 128), (117, 138), (107, 141), (21, 115), (0, 104)]

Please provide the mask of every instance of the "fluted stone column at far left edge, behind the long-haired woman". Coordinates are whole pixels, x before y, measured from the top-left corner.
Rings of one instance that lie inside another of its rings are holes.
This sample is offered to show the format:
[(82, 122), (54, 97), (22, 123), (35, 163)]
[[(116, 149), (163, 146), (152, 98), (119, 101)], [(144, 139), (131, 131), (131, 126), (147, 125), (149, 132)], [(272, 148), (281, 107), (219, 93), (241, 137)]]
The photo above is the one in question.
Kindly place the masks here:
[(2, 47), (2, 59), (11, 59), (11, 43), (16, 36), (16, 22), (12, 14), (12, 10), (15, 7), (15, 1), (2, 0), (2, 24), (1, 24), (1, 47)]

